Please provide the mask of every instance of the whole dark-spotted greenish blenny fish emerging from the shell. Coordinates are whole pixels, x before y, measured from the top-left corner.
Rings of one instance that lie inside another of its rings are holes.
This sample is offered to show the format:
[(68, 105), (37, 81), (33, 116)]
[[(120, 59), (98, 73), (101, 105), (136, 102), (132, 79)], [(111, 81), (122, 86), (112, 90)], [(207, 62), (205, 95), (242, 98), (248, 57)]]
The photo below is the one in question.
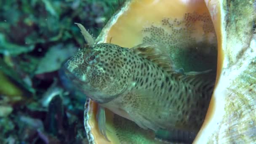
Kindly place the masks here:
[(215, 73), (177, 69), (167, 48), (143, 43), (123, 48), (95, 44), (77, 24), (88, 46), (65, 64), (74, 85), (99, 103), (99, 129), (106, 137), (104, 108), (141, 128), (198, 132), (213, 93)]

